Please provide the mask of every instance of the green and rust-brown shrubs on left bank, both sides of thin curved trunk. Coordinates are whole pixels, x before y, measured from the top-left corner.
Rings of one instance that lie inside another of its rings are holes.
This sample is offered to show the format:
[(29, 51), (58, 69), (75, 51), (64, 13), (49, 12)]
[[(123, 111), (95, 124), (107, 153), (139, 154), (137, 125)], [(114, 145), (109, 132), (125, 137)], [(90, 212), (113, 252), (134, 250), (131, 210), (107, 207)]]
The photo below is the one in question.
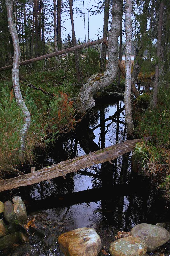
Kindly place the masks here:
[[(24, 116), (18, 107), (13, 90), (0, 84), (0, 163), (18, 164), (20, 162), (20, 129)], [(30, 88), (27, 89), (24, 100), (31, 114), (31, 125), (27, 132), (25, 160), (32, 161), (33, 150), (44, 148), (54, 141), (61, 132), (73, 129), (75, 125), (73, 101), (69, 100), (64, 92), (50, 100), (46, 105), (41, 102), (38, 108), (30, 97)], [(42, 93), (43, 94), (43, 93)]]

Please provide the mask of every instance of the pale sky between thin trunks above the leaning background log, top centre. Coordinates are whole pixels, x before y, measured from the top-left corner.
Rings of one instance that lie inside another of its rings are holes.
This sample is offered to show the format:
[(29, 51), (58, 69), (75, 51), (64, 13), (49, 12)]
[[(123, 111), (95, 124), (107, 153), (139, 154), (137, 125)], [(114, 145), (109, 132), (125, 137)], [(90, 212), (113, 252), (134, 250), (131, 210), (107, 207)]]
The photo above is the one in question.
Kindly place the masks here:
[[(97, 5), (98, 0), (90, 0), (90, 8), (93, 8), (92, 5)], [(73, 7), (78, 7), (83, 11), (83, 1), (73, 1)], [(84, 0), (84, 8), (85, 8), (85, 26), (86, 26), (86, 40), (88, 37), (88, 1)], [(75, 29), (75, 35), (76, 39), (78, 40), (79, 37), (81, 38), (82, 41), (85, 41), (85, 35), (84, 35), (84, 17), (80, 16), (79, 14), (73, 14), (74, 17), (74, 29)], [(102, 32), (103, 32), (103, 18), (104, 18), (104, 12), (101, 14), (93, 15), (90, 16), (89, 18), (89, 38), (91, 41), (97, 40), (98, 36), (95, 36), (95, 34), (99, 34), (99, 36), (102, 37)], [(66, 21), (64, 22), (64, 26), (66, 30), (62, 30), (62, 36), (63, 36), (63, 41), (65, 40), (65, 35), (68, 36), (68, 34), (71, 35), (71, 20), (69, 16), (66, 18)], [(99, 37), (99, 38), (101, 38)]]

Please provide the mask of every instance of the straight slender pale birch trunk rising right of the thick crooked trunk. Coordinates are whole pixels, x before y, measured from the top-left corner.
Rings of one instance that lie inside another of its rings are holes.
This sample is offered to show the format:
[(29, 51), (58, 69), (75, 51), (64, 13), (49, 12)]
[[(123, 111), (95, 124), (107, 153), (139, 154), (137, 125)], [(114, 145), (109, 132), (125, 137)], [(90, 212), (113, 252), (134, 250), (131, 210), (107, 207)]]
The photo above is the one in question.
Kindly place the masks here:
[(125, 32), (126, 32), (126, 48), (125, 48), (125, 93), (124, 93), (124, 103), (125, 103), (125, 122), (127, 125), (128, 137), (132, 137), (134, 132), (134, 125), (132, 121), (132, 106), (131, 106), (131, 47), (132, 47), (132, 24), (131, 24), (131, 13), (132, 13), (132, 0), (126, 0), (125, 7)]

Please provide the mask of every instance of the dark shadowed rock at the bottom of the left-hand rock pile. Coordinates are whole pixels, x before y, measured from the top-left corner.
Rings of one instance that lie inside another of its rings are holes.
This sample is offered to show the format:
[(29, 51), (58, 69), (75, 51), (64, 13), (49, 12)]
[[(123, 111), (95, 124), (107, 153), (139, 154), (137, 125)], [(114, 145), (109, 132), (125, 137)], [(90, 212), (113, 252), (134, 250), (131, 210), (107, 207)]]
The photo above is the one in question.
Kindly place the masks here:
[(15, 232), (0, 238), (0, 251), (12, 247), (20, 241), (19, 233)]

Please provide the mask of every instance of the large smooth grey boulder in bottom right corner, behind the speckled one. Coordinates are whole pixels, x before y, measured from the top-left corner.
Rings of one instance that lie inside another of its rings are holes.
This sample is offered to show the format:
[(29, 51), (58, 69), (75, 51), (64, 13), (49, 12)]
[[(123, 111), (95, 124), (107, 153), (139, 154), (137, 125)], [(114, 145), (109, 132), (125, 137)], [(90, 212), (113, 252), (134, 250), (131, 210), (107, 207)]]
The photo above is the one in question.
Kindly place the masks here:
[(165, 228), (147, 223), (141, 223), (133, 227), (131, 235), (142, 238), (148, 246), (148, 252), (154, 251), (170, 239), (170, 234)]

